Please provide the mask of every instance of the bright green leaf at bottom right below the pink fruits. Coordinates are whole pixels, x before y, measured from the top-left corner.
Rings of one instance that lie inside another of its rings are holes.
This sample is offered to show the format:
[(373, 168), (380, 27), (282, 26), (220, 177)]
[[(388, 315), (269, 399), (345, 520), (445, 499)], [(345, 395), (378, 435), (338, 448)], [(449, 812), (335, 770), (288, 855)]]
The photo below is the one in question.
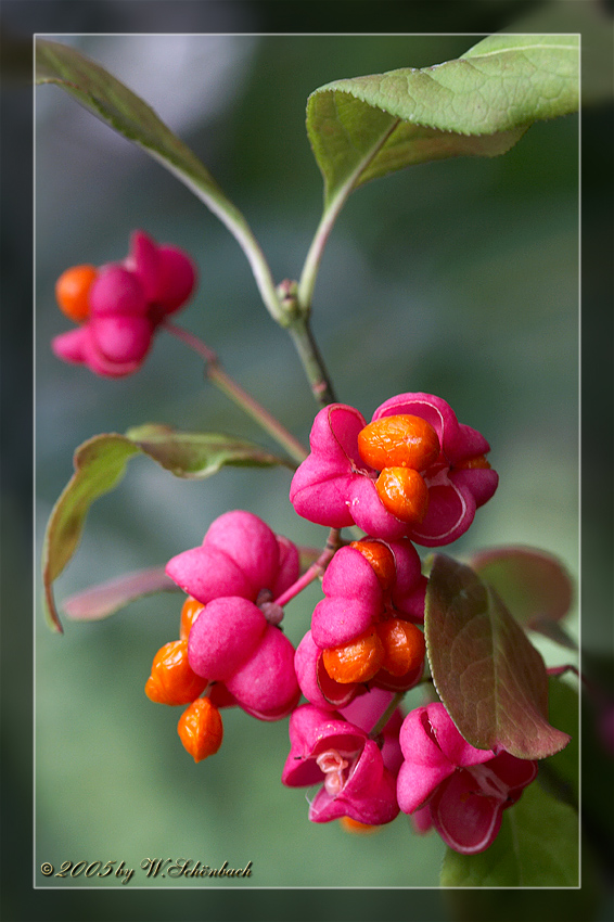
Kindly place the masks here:
[(578, 817), (538, 784), (503, 811), (500, 832), (478, 855), (448, 848), (442, 868), (445, 887), (578, 886)]

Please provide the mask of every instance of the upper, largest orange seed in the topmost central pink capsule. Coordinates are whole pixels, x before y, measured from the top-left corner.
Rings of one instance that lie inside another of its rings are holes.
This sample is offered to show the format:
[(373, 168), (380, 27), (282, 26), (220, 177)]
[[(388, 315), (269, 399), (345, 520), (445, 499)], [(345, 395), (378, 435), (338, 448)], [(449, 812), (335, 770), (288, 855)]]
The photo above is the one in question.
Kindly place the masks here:
[(358, 453), (375, 471), (384, 468), (424, 471), (439, 454), (439, 439), (426, 420), (401, 413), (364, 426), (358, 433)]

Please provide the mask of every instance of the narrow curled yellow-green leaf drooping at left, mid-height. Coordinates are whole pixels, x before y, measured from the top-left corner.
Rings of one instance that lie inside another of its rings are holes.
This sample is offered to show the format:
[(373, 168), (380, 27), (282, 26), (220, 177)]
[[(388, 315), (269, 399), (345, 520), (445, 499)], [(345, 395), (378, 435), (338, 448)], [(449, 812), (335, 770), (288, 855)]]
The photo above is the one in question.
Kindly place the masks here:
[(233, 436), (182, 433), (159, 425), (131, 428), (126, 435), (97, 435), (85, 441), (75, 452), (75, 473), (53, 508), (42, 547), (46, 615), (55, 630), (62, 627), (52, 584), (75, 553), (90, 505), (119, 483), (128, 460), (139, 453), (149, 456), (177, 477), (190, 479), (208, 477), (227, 464), (260, 468), (289, 464)]

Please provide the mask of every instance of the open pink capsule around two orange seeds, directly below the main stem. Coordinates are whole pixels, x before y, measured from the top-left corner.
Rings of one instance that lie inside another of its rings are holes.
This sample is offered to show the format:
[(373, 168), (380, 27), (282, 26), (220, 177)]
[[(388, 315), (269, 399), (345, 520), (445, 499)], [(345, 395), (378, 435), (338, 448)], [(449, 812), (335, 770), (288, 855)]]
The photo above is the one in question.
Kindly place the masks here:
[(459, 424), (449, 405), (431, 394), (393, 397), (378, 408), (372, 423), (388, 417), (418, 418), (432, 433), (435, 451), (423, 453), (425, 466), (415, 462), (419, 470), (413, 472), (423, 491), (417, 518), (399, 517), (400, 512), (391, 511), (396, 507), (384, 504), (384, 488), (379, 487), (381, 471), (394, 472), (398, 464), (401, 470), (406, 464), (411, 468), (412, 462), (391, 460), (391, 468), (372, 468), (359, 450), (359, 436), (367, 422), (358, 410), (344, 404), (331, 404), (314, 421), (311, 453), (292, 481), (294, 509), (319, 525), (358, 525), (375, 538), (396, 540), (406, 536), (426, 547), (455, 541), (497, 488), (498, 476), (484, 457), (488, 443), (475, 430)]

